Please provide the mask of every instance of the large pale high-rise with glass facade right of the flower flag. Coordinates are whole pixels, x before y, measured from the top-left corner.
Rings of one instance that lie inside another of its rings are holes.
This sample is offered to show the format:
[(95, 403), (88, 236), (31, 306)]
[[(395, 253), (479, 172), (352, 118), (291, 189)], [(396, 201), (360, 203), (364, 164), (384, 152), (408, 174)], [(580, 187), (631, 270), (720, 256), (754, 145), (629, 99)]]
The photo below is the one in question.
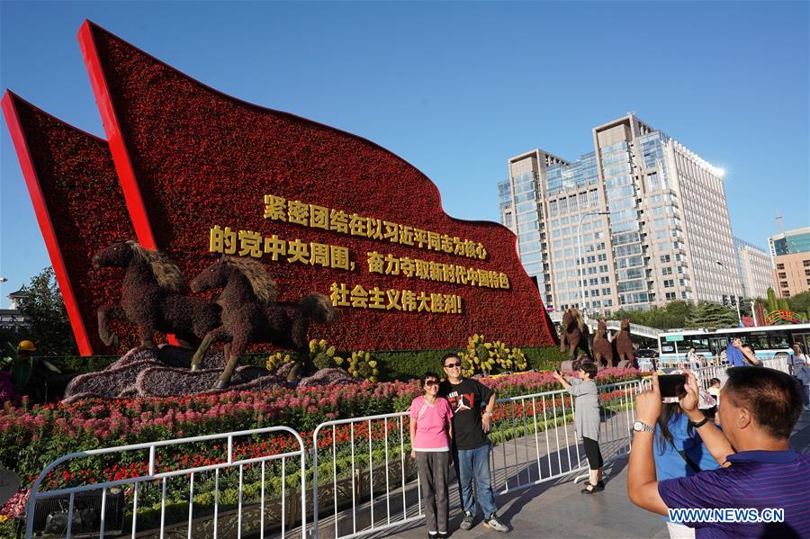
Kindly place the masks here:
[(510, 158), (499, 184), (501, 219), (545, 304), (610, 314), (736, 301), (723, 172), (633, 114), (592, 137), (573, 162), (543, 149)]

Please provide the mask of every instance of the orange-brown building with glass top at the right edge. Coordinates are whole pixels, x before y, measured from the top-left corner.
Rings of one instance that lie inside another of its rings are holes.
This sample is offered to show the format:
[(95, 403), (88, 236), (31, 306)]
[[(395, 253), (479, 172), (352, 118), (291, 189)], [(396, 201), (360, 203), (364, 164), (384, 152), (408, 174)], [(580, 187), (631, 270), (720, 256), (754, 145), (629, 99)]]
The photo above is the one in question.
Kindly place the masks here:
[(779, 297), (810, 291), (810, 227), (771, 236), (768, 246)]

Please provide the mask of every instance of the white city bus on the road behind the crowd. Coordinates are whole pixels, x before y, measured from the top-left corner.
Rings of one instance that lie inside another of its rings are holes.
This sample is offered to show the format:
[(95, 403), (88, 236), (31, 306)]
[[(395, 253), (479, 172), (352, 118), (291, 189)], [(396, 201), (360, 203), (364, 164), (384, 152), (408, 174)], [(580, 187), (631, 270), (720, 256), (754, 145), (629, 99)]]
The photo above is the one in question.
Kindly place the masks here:
[(805, 351), (810, 348), (810, 324), (662, 332), (658, 336), (659, 363), (673, 367), (685, 363), (689, 347), (694, 346), (704, 364), (724, 364), (728, 339), (735, 337), (743, 339), (743, 344), (752, 345), (758, 359), (787, 359), (791, 354), (790, 346), (794, 344), (801, 344)]

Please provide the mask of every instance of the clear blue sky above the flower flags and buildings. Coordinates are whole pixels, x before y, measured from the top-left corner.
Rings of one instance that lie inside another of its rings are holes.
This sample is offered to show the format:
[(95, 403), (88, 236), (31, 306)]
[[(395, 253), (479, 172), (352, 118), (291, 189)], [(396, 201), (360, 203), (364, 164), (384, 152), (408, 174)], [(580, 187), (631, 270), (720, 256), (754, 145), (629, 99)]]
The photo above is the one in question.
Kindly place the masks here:
[[(454, 217), (498, 220), (507, 159), (570, 160), (636, 114), (725, 168), (734, 234), (810, 222), (806, 2), (0, 2), (0, 86), (103, 137), (76, 41), (90, 19), (249, 102), (371, 139)], [(49, 265), (0, 128), (0, 295)], [(0, 300), (5, 307), (5, 299)]]

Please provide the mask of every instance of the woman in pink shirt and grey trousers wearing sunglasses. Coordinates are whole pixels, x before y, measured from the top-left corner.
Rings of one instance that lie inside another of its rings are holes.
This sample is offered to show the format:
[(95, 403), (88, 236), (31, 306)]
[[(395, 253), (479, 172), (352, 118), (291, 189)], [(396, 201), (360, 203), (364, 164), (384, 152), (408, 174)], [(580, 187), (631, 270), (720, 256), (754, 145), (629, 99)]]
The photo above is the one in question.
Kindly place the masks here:
[(427, 373), (422, 378), (424, 395), (410, 404), (410, 458), (419, 467), (419, 483), (430, 539), (444, 538), (450, 514), (447, 475), (450, 469), (450, 437), (453, 410), (446, 399), (438, 396), (438, 376)]

